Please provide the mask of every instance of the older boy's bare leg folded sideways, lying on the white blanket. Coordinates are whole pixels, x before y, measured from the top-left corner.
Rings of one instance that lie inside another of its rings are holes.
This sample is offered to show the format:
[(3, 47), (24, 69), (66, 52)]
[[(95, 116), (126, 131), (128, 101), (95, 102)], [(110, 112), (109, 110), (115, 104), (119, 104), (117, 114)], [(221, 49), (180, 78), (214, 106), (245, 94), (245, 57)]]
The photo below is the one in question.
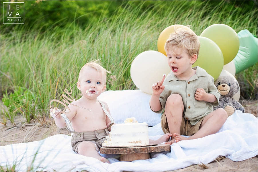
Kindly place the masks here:
[(226, 122), (227, 118), (228, 115), (226, 111), (222, 108), (219, 108), (205, 116), (204, 120), (202, 120), (199, 131), (193, 134), (192, 136), (186, 138), (176, 132), (173, 135), (175, 137), (176, 142), (179, 142), (181, 140), (191, 140), (196, 138), (202, 138), (210, 134), (215, 134), (220, 130), (220, 128)]

